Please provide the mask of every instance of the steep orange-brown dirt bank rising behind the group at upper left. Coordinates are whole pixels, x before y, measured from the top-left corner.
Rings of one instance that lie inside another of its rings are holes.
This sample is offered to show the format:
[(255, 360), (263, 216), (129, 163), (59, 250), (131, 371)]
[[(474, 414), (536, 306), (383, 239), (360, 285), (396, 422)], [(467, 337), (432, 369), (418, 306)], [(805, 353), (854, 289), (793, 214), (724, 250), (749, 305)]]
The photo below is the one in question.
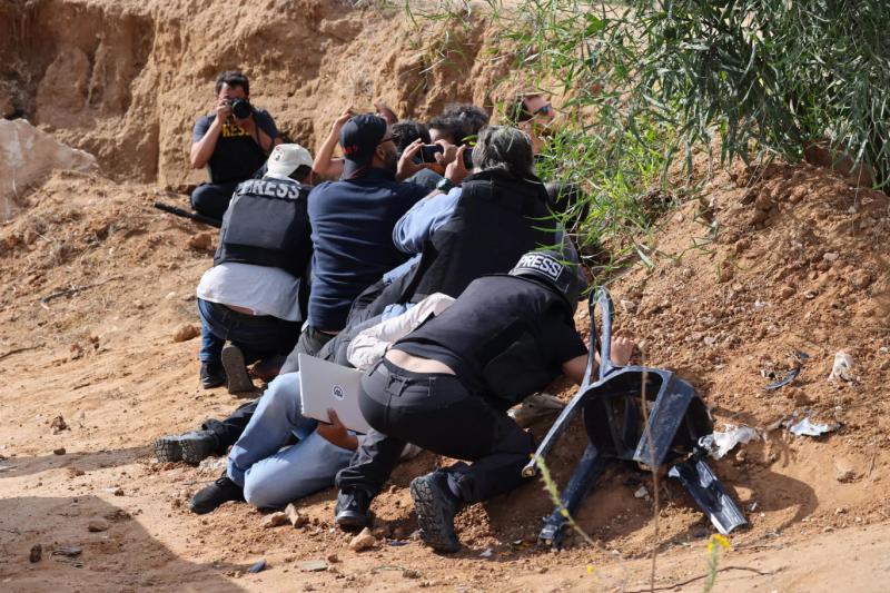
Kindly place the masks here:
[(177, 186), (204, 180), (187, 154), (218, 72), (247, 73), (253, 102), (314, 149), (349, 106), (491, 106), (508, 60), (486, 31), (346, 1), (13, 1), (0, 7), (0, 93), (106, 175)]

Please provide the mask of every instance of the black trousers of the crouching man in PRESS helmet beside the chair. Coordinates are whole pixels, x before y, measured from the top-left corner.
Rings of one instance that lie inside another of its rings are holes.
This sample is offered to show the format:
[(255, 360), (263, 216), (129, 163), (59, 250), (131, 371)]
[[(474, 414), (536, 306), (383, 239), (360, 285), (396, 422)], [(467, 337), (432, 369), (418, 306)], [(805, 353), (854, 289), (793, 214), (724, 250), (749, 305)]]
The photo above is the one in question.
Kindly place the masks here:
[(348, 467), (340, 490), (376, 496), (398, 464), (406, 443), (459, 462), (445, 471), (471, 504), (515, 488), (534, 452), (532, 435), (454, 375), (411, 373), (382, 360), (362, 379), (359, 407), (370, 431)]

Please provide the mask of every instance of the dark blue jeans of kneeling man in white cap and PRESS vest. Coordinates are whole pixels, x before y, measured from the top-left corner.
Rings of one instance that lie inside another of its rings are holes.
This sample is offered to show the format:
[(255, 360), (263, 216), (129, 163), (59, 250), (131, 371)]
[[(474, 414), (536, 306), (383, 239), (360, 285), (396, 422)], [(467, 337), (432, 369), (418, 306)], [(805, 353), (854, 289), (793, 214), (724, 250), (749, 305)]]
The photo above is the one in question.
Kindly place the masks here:
[(250, 364), (276, 354), (287, 356), (299, 339), (300, 324), (271, 315), (247, 315), (198, 299), (201, 317), (201, 363), (219, 363), (228, 339), (241, 350)]

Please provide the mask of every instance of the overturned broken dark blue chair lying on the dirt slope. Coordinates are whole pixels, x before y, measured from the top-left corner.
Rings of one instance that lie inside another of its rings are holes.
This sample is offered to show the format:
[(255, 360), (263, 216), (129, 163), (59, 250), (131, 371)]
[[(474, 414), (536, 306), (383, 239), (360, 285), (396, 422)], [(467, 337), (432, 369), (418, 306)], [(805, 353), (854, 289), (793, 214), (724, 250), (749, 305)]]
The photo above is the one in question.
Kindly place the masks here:
[[(570, 422), (583, 413), (590, 443), (568, 484), (562, 504), (544, 521), (538, 542), (558, 546), (565, 532), (563, 510), (574, 514), (610, 462), (636, 462), (649, 467), (673, 464), (668, 475), (676, 477), (722, 534), (746, 523), (723, 485), (704, 462), (699, 438), (713, 431), (713, 421), (695, 389), (674, 373), (644, 366), (612, 364), (612, 300), (605, 288), (591, 293), (591, 352), (587, 370), (575, 397), (547, 432), (524, 476), (537, 472)], [(601, 309), (602, 334), (596, 330)], [(594, 380), (595, 353), (600, 352), (599, 377)], [(643, 391), (647, 422), (644, 426)]]

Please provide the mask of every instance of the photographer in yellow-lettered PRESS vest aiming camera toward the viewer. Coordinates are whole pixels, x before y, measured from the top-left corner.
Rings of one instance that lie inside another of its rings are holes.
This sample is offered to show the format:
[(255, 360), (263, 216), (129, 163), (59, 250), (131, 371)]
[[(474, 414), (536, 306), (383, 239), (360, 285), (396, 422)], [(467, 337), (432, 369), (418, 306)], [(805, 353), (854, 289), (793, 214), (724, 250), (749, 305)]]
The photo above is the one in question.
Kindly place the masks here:
[(235, 187), (254, 176), (281, 138), (268, 111), (250, 105), (250, 82), (241, 72), (219, 75), (214, 95), (216, 112), (200, 117), (191, 132), (191, 168), (206, 166), (210, 175), (191, 192), (191, 208), (221, 220)]

